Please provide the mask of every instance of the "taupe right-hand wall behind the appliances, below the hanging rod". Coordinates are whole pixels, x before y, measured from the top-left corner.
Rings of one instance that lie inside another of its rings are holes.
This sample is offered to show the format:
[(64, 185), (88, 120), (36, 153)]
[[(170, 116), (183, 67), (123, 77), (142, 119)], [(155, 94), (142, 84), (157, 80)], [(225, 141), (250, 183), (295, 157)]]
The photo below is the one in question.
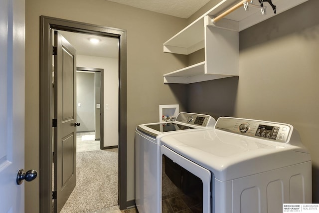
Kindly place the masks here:
[(314, 203), (319, 203), (318, 8), (318, 0), (309, 0), (241, 31), (239, 77), (188, 88), (189, 111), (292, 124), (311, 153)]

